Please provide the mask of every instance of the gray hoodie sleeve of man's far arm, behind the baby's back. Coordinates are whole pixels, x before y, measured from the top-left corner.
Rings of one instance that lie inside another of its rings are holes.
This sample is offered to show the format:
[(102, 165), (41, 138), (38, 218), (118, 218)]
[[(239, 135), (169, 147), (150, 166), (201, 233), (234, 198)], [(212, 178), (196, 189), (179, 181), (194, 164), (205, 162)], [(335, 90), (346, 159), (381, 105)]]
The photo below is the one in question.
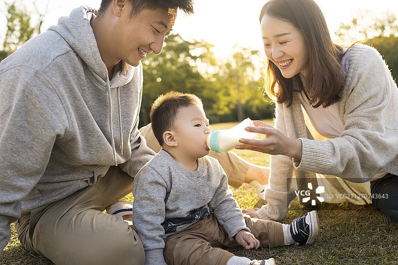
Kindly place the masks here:
[[(140, 89), (139, 89), (139, 105), (141, 105), (142, 98), (142, 64), (140, 64)], [(156, 154), (152, 149), (146, 145), (146, 140), (140, 135), (138, 130), (139, 115), (137, 115), (134, 125), (132, 127), (130, 136), (131, 157), (120, 164), (122, 171), (126, 172), (129, 176), (135, 177), (137, 172)]]

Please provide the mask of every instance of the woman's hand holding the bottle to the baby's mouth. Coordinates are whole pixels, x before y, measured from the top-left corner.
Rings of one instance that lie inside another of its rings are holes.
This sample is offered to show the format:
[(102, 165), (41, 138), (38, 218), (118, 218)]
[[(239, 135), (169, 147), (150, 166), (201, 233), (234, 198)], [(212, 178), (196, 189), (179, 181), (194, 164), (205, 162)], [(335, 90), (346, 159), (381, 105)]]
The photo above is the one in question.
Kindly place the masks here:
[(302, 143), (299, 139), (286, 137), (283, 133), (262, 121), (253, 121), (255, 127), (246, 127), (248, 132), (256, 132), (265, 135), (264, 139), (241, 138), (239, 142), (244, 145), (236, 145), (235, 149), (247, 149), (270, 155), (284, 155), (301, 160)]

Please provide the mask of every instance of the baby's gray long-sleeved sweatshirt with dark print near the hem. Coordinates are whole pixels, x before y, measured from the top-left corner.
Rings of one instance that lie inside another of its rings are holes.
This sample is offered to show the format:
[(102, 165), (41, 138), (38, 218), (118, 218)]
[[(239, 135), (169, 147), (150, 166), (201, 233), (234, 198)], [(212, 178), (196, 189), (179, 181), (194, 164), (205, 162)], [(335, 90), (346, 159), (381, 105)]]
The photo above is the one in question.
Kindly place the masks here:
[(227, 176), (214, 158), (198, 159), (188, 171), (163, 149), (134, 178), (133, 224), (145, 250), (145, 264), (165, 264), (164, 238), (178, 233), (211, 212), (232, 241), (246, 227), (232, 197)]

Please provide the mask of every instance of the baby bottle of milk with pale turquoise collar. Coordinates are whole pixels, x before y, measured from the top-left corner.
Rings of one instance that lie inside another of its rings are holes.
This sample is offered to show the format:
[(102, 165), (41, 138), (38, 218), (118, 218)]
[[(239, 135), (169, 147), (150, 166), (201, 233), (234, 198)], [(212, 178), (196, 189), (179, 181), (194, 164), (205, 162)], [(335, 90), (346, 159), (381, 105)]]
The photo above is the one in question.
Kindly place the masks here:
[(245, 131), (248, 126), (254, 126), (249, 118), (230, 129), (211, 132), (207, 137), (207, 147), (216, 153), (226, 153), (234, 149), (235, 145), (240, 144), (240, 138), (258, 139), (257, 133)]

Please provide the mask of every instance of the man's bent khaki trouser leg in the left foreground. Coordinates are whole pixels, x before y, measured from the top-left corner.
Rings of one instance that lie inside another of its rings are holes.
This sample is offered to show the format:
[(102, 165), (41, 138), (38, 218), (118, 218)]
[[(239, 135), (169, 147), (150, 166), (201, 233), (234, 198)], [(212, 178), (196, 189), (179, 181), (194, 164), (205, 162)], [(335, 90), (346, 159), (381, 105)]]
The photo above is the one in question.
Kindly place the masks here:
[(135, 230), (122, 217), (102, 213), (130, 193), (132, 184), (132, 177), (110, 167), (93, 186), (22, 215), (16, 222), (19, 241), (56, 265), (143, 264)]

